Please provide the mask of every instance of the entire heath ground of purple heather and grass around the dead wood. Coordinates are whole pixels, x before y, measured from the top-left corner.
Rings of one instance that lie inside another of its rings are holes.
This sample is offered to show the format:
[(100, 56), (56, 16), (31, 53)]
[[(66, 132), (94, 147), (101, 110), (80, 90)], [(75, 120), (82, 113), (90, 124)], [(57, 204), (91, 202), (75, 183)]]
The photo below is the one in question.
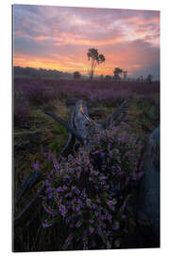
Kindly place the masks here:
[[(127, 201), (144, 174), (144, 143), (160, 124), (160, 82), (16, 77), (13, 96), (14, 250), (140, 247), (134, 237), (142, 244), (143, 237)], [(89, 116), (102, 123), (127, 99), (126, 119), (91, 141), (91, 154), (102, 159), (100, 171), (83, 147), (58, 161), (68, 132), (45, 111), (69, 121), (76, 101), (84, 100)], [(88, 182), (82, 176), (87, 172)], [(23, 217), (44, 181), (39, 204)]]

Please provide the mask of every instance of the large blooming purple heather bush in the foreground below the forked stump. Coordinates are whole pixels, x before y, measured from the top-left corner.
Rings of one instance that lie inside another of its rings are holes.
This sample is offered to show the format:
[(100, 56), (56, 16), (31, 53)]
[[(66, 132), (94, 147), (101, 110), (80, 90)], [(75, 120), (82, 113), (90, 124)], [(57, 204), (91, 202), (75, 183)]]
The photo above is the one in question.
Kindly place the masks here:
[(68, 227), (64, 248), (71, 243), (82, 249), (119, 247), (124, 230), (130, 229), (129, 185), (143, 174), (141, 150), (135, 137), (112, 127), (94, 135), (88, 149), (80, 148), (76, 156), (60, 163), (52, 157), (42, 203), (52, 221), (43, 227), (59, 222), (59, 215)]

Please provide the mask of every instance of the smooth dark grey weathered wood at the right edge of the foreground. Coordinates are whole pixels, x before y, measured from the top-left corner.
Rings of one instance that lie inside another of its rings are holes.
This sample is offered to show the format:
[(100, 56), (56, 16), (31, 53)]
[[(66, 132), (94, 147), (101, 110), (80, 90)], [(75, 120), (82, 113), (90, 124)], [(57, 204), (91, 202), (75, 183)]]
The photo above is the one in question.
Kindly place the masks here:
[(141, 239), (160, 247), (160, 127), (146, 145), (144, 176), (131, 200)]

